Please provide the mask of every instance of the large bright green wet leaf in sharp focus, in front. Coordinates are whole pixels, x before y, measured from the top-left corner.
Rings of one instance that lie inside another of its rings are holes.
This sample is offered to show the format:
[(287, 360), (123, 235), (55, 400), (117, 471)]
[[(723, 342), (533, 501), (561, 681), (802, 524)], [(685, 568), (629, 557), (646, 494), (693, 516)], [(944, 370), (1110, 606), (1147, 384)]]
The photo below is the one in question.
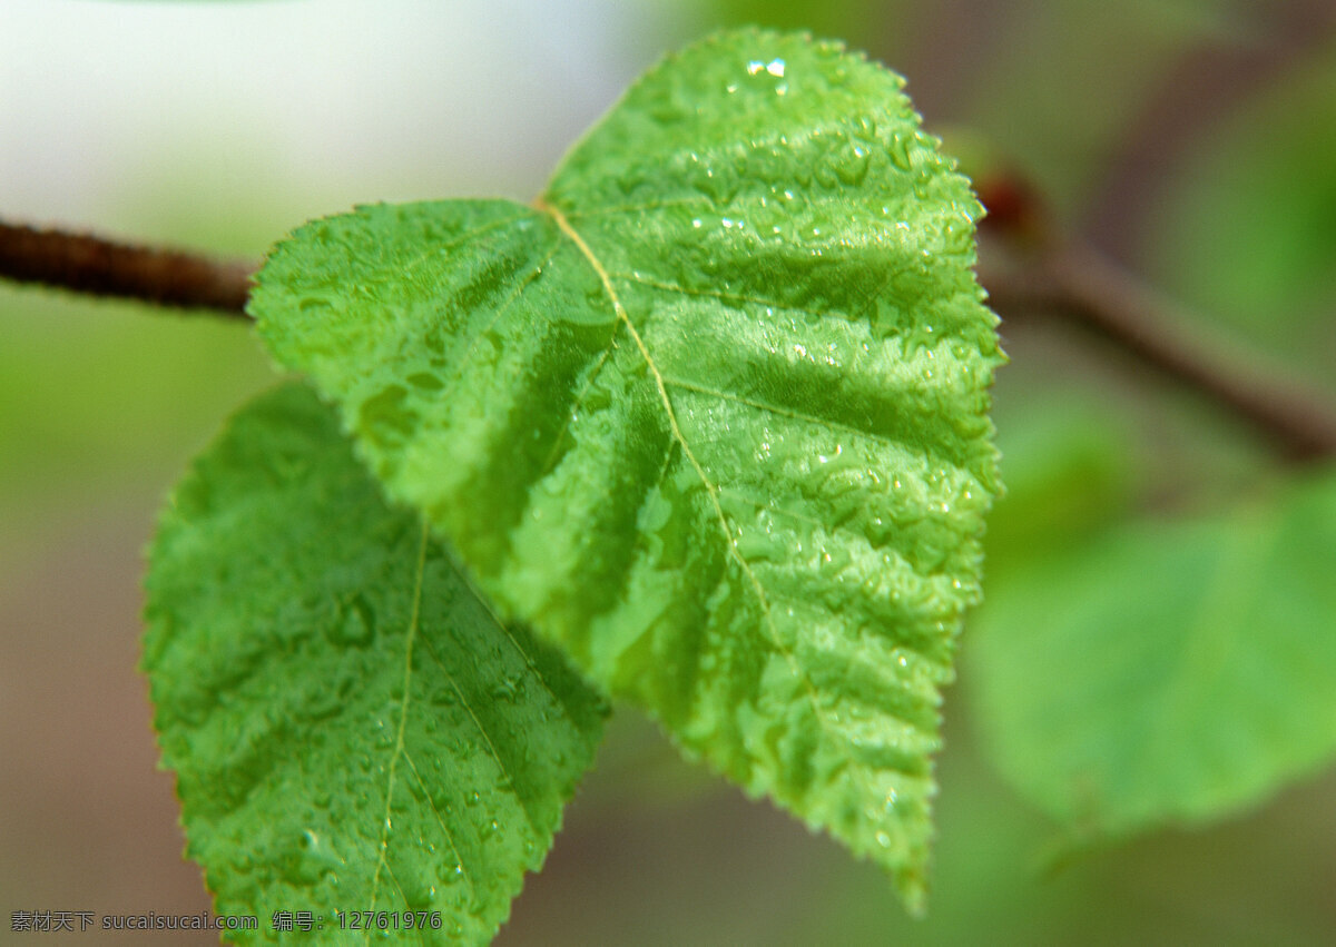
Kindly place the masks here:
[(314, 222), (251, 309), (502, 612), (918, 906), (1002, 355), (979, 207), (900, 85), (707, 40), (534, 207)]

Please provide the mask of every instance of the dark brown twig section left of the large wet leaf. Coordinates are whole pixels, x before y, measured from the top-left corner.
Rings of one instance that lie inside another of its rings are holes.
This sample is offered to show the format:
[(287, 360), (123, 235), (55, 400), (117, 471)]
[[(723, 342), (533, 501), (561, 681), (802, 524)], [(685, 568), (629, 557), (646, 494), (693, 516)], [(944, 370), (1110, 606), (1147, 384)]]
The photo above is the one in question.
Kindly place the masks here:
[(0, 220), (0, 278), (246, 318), (255, 264)]

